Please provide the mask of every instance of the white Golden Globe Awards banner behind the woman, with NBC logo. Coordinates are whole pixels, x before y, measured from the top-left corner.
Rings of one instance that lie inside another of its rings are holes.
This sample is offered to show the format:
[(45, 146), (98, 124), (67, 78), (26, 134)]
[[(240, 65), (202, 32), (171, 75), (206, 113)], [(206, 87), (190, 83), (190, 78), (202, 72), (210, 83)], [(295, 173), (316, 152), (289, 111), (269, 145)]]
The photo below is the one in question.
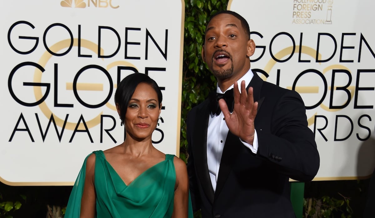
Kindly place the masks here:
[(153, 143), (179, 154), (183, 0), (18, 0), (0, 9), (0, 181), (72, 185), (84, 158), (121, 144), (117, 84), (163, 93)]

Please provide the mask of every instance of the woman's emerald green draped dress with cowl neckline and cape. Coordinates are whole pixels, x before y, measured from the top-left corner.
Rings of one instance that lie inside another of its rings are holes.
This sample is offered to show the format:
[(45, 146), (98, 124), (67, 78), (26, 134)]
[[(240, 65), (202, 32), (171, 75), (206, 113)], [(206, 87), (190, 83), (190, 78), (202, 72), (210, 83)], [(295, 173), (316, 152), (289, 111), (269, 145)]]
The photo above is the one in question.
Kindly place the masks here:
[[(96, 217), (170, 218), (172, 216), (176, 181), (174, 155), (166, 154), (165, 160), (147, 169), (132, 183), (126, 185), (107, 162), (103, 151), (93, 153), (96, 156)], [(65, 218), (80, 217), (87, 157), (69, 197)], [(189, 218), (192, 217), (189, 194)]]

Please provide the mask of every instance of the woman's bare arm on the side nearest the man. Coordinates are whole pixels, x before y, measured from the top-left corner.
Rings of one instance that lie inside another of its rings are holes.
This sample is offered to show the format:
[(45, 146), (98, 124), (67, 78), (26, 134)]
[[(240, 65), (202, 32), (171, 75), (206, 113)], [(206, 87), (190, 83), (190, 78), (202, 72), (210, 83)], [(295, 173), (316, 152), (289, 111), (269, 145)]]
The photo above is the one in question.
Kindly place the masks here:
[(178, 157), (174, 157), (173, 162), (176, 170), (176, 185), (172, 218), (187, 218), (189, 179), (187, 177), (186, 164)]

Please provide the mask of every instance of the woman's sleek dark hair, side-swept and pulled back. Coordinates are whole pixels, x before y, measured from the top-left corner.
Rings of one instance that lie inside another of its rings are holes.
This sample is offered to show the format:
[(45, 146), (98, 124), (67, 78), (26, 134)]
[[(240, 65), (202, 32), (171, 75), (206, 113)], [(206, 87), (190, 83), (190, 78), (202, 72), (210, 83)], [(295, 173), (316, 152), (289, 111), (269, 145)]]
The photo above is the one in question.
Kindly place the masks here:
[(159, 107), (163, 100), (162, 91), (160, 90), (159, 86), (155, 82), (155, 80), (151, 79), (149, 76), (143, 73), (133, 73), (129, 76), (126, 76), (123, 80), (121, 80), (120, 84), (117, 86), (117, 90), (115, 92), (115, 104), (118, 105), (120, 109), (120, 119), (124, 121), (124, 117), (127, 110), (127, 105), (129, 104), (130, 98), (132, 98), (133, 93), (139, 83), (146, 83), (153, 87), (157, 94), (157, 100), (159, 101)]

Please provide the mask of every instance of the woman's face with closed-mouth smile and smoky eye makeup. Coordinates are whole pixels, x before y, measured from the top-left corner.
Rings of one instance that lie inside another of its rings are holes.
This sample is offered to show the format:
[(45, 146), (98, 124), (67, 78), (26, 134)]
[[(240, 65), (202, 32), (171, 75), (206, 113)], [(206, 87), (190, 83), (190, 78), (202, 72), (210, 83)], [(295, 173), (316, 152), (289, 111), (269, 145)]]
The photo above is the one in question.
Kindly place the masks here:
[(127, 134), (133, 139), (151, 139), (161, 112), (153, 87), (147, 83), (139, 83), (129, 104), (124, 106), (127, 106), (124, 119)]

